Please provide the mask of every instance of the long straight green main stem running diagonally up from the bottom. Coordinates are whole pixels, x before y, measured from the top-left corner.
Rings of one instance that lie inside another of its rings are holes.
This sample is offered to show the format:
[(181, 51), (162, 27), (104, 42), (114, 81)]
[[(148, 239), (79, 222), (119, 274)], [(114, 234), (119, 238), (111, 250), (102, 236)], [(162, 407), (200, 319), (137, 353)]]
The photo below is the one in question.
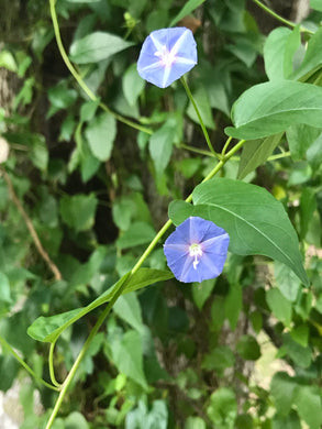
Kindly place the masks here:
[[(230, 138), (231, 139), (231, 138)], [(226, 155), (224, 155), (222, 157), (222, 160), (220, 160), (218, 162), (218, 164), (214, 166), (214, 168), (204, 177), (204, 179), (202, 180), (202, 183), (207, 182), (207, 180), (210, 180), (213, 176), (216, 175), (216, 173), (224, 166), (224, 164), (244, 145), (245, 143), (245, 140), (241, 140)], [(189, 195), (188, 198), (186, 198), (186, 202), (191, 202), (192, 201), (192, 194)], [(170, 226), (173, 224), (173, 221), (169, 219), (164, 226), (163, 228), (158, 231), (158, 233), (156, 234), (156, 237), (153, 239), (153, 241), (149, 243), (149, 245), (146, 248), (145, 252), (142, 254), (142, 256), (140, 257), (140, 260), (136, 262), (136, 264), (134, 265), (134, 267), (132, 268), (132, 271), (129, 273), (127, 277), (124, 279), (123, 283), (121, 283), (115, 292), (115, 294), (113, 295), (113, 298), (111, 299), (111, 301), (108, 304), (108, 306), (106, 307), (106, 309), (102, 311), (102, 314), (100, 315), (98, 321), (96, 322), (95, 327), (92, 328), (88, 339), (86, 340), (81, 351), (79, 352), (79, 355), (77, 356), (76, 361), (74, 362), (74, 365), (69, 372), (69, 374), (67, 375), (65, 382), (62, 384), (60, 386), (60, 393), (59, 393), (59, 396), (56, 400), (56, 404), (55, 404), (55, 407), (52, 411), (52, 415), (49, 417), (49, 420), (46, 425), (46, 428), (45, 429), (51, 429), (54, 421), (55, 421), (55, 418), (57, 416), (57, 413), (60, 408), (60, 405), (64, 400), (64, 397), (67, 393), (67, 389), (73, 381), (73, 378), (75, 377), (75, 374), (78, 370), (78, 366), (81, 362), (81, 360), (84, 359), (92, 339), (95, 338), (95, 336), (97, 334), (97, 332), (99, 331), (100, 327), (102, 326), (102, 323), (104, 322), (106, 318), (108, 317), (109, 312), (111, 311), (113, 305), (115, 304), (115, 301), (119, 299), (119, 297), (122, 295), (122, 293), (124, 292), (124, 289), (126, 288), (126, 285), (127, 285), (127, 282), (130, 280), (130, 278), (132, 277), (132, 275), (134, 273), (137, 272), (137, 270), (142, 266), (142, 264), (144, 263), (144, 261), (148, 257), (148, 255), (151, 254), (151, 252), (153, 251), (153, 249), (156, 246), (156, 244), (158, 243), (158, 241), (163, 238), (163, 235), (166, 233), (166, 231), (170, 228)]]

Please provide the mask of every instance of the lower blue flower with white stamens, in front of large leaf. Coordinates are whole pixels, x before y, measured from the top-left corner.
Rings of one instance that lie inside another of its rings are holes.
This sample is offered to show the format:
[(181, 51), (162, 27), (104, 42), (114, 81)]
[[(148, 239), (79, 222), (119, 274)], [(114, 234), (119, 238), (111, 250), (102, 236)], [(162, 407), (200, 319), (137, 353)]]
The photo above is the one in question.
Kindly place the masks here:
[(222, 273), (229, 243), (225, 230), (209, 220), (190, 217), (167, 238), (164, 252), (178, 280), (200, 283)]

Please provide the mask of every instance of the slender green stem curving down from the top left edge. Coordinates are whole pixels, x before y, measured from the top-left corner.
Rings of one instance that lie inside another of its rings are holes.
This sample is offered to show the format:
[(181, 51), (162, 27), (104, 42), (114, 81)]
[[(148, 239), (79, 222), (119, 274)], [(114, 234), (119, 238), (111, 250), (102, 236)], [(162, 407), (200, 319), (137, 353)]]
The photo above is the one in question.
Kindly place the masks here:
[[(60, 36), (60, 30), (59, 30), (59, 24), (58, 24), (58, 19), (57, 19), (57, 13), (56, 13), (56, 9), (55, 9), (55, 3), (56, 3), (56, 0), (49, 0), (49, 6), (51, 6), (51, 15), (52, 15), (52, 21), (53, 21), (53, 26), (54, 26), (54, 32), (55, 32), (55, 37), (56, 37), (56, 42), (57, 42), (57, 46), (58, 46), (58, 50), (59, 50), (59, 53), (62, 55), (62, 58), (64, 59), (64, 63), (66, 64), (66, 67), (68, 68), (68, 70), (71, 73), (71, 75), (74, 76), (74, 78), (77, 80), (78, 85), (80, 86), (80, 88), (85, 91), (85, 94), (88, 96), (88, 98), (92, 101), (99, 101), (98, 97), (91, 91), (91, 89), (85, 84), (85, 81), (82, 80), (81, 76), (79, 75), (79, 73), (76, 70), (76, 68), (73, 66), (73, 64), (70, 63), (70, 59), (68, 58), (68, 55), (65, 51), (65, 47), (64, 47), (64, 44), (63, 44), (63, 41), (62, 41), (62, 36)], [(129, 127), (132, 127), (134, 128), (135, 130), (138, 130), (138, 131), (142, 131), (142, 132), (145, 132), (147, 134), (152, 134), (153, 131), (145, 128), (145, 127), (142, 127), (138, 123), (135, 123), (129, 119), (125, 119), (123, 118), (121, 114), (118, 114), (115, 112), (113, 112), (111, 109), (108, 108), (107, 105), (104, 105), (103, 102), (99, 102), (99, 106), (108, 113), (111, 113), (118, 121), (120, 122), (123, 122), (125, 123), (126, 125)]]

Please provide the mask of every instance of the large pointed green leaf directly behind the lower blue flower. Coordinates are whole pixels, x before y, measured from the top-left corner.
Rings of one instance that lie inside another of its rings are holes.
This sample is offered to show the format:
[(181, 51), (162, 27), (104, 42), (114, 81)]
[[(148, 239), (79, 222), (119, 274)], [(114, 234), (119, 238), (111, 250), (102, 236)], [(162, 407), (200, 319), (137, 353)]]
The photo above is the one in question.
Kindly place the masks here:
[(259, 254), (288, 265), (309, 285), (297, 233), (281, 205), (266, 189), (227, 178), (196, 187), (193, 205), (174, 201), (169, 217), (175, 224), (189, 216), (211, 220), (230, 234), (230, 250), (240, 255)]

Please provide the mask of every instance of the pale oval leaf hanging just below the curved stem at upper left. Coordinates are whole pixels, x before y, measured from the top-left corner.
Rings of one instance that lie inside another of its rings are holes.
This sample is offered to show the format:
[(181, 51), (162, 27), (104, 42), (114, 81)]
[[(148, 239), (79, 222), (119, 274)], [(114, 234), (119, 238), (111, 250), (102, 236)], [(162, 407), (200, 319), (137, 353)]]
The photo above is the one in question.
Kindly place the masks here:
[(116, 135), (115, 119), (107, 112), (99, 114), (87, 125), (85, 135), (92, 154), (99, 161), (108, 161)]

